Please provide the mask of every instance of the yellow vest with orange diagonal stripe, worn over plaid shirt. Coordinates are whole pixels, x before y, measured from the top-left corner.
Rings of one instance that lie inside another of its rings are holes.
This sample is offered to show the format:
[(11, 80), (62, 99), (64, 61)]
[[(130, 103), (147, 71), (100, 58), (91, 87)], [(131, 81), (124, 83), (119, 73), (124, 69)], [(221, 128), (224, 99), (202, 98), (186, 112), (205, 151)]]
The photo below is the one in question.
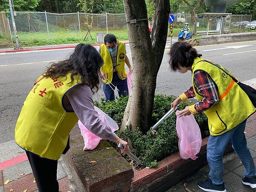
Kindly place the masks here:
[(198, 101), (204, 98), (204, 96), (198, 92), (194, 81), (194, 73), (197, 70), (204, 70), (216, 83), (218, 87), (218, 96), (220, 99), (217, 105), (209, 108), (207, 111), (204, 111), (204, 113), (208, 117), (210, 134), (212, 136), (221, 135), (247, 119), (252, 113), (255, 112), (255, 108), (246, 93), (244, 93), (239, 85), (236, 84), (229, 75), (227, 75), (227, 73), (230, 73), (229, 71), (220, 66), (227, 72), (224, 73), (224, 71), (215, 65), (201, 60), (204, 59), (195, 58), (192, 65), (194, 92)]

